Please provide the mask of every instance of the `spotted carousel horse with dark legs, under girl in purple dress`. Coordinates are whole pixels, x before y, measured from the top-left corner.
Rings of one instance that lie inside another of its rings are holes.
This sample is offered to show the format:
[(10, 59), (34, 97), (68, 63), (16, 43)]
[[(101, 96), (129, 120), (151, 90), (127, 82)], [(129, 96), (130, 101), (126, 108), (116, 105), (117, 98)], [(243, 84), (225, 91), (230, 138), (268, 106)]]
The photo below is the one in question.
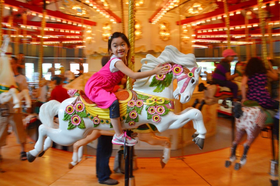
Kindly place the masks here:
[(236, 148), (241, 142), (242, 137), (247, 134), (246, 142), (244, 143), (243, 155), (239, 162), (234, 165), (235, 170), (239, 170), (243, 167), (247, 161), (247, 153), (254, 142), (255, 138), (258, 137), (262, 128), (265, 125), (273, 124), (273, 116), (275, 111), (264, 110), (255, 101), (246, 101), (244, 104), (251, 104), (251, 107), (242, 107), (241, 104), (235, 105), (234, 112), (236, 114), (235, 126), (236, 126), (236, 136), (232, 142), (231, 155), (229, 160), (225, 161), (225, 167), (230, 167), (230, 165), (237, 160)]

